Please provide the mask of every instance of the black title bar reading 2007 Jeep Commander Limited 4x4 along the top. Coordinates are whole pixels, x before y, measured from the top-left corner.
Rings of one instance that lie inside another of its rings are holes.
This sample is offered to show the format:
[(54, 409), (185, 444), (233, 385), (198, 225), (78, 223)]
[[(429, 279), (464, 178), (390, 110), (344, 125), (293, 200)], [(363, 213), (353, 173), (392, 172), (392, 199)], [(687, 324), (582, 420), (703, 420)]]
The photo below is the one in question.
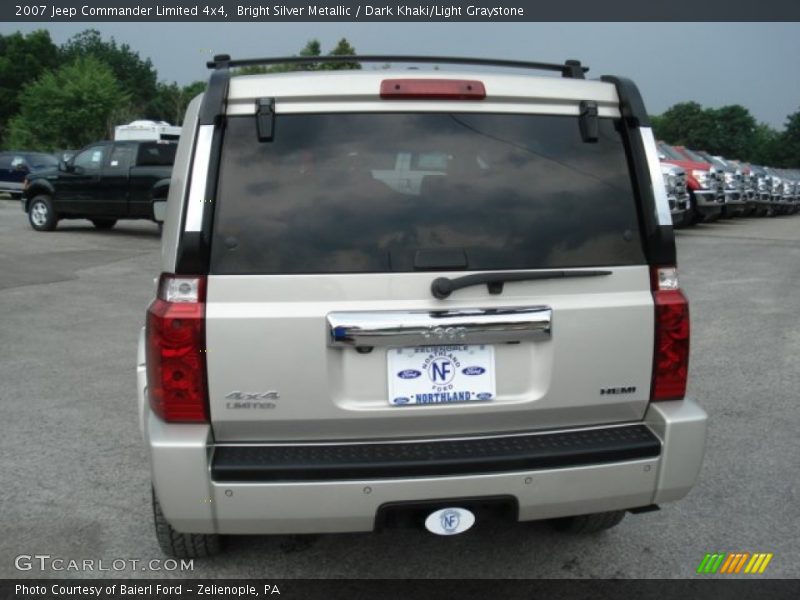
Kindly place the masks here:
[(5, 22), (800, 21), (786, 0), (4, 0)]

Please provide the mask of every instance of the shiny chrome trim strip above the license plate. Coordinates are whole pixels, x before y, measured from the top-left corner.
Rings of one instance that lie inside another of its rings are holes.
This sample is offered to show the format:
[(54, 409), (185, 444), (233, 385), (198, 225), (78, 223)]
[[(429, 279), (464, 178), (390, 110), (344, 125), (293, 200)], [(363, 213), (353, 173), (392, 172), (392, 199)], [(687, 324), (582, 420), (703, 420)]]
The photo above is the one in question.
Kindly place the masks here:
[(445, 311), (334, 312), (327, 316), (334, 347), (494, 344), (550, 338), (547, 306)]

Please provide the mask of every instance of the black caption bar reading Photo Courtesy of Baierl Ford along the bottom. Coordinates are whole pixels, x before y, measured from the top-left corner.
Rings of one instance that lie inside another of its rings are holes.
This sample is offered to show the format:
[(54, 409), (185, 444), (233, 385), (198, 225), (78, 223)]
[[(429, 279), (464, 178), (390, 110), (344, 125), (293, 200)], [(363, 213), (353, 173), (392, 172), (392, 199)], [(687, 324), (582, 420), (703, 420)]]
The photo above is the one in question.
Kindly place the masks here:
[[(434, 557), (432, 557), (432, 560)], [(441, 561), (441, 558), (439, 558)], [(441, 561), (444, 562), (444, 561)], [(447, 574), (443, 567), (443, 574)], [(536, 575), (535, 565), (531, 576)], [(580, 576), (580, 573), (577, 573)], [(0, 581), (2, 600), (795, 600), (789, 579), (39, 579)]]

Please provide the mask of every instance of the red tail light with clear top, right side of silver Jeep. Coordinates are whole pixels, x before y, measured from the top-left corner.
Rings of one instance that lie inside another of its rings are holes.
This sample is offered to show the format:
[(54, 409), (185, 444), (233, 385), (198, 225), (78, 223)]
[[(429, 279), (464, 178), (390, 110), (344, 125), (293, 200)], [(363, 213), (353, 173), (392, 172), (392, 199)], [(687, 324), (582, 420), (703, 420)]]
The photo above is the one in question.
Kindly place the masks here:
[(651, 400), (682, 400), (689, 372), (689, 303), (675, 267), (653, 267), (655, 350)]

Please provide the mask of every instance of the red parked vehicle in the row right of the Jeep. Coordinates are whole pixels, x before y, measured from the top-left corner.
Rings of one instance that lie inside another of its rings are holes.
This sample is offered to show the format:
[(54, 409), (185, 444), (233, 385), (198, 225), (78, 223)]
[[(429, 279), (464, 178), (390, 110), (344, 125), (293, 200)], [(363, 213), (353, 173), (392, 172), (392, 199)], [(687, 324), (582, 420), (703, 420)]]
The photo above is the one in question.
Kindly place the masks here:
[(658, 143), (662, 162), (681, 167), (686, 171), (689, 187), (689, 213), (693, 223), (715, 221), (725, 207), (724, 175), (706, 161), (689, 160), (672, 146)]

